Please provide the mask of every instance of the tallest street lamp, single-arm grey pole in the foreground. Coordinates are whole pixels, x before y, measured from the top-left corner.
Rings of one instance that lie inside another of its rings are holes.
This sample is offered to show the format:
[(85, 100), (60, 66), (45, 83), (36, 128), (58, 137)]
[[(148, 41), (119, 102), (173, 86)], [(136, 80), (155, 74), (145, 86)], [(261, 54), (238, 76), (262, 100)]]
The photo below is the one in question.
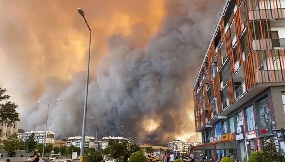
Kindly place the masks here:
[(83, 110), (83, 121), (82, 121), (82, 137), (81, 137), (81, 149), (80, 149), (80, 162), (83, 162), (84, 156), (84, 142), (85, 142), (85, 130), (86, 130), (86, 111), (87, 111), (87, 99), (88, 99), (88, 84), (89, 84), (89, 68), (90, 68), (90, 48), (91, 48), (91, 29), (84, 17), (84, 11), (78, 7), (79, 14), (83, 17), (88, 29), (89, 29), (89, 53), (88, 53), (88, 62), (87, 62), (87, 73), (86, 73), (86, 90), (85, 90), (85, 101), (84, 101), (84, 110)]

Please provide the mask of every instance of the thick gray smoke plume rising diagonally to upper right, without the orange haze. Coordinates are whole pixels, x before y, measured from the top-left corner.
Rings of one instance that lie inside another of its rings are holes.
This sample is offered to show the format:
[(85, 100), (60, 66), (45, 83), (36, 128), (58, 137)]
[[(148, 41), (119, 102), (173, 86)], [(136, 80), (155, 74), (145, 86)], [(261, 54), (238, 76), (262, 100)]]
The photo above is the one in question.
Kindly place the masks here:
[[(132, 132), (144, 141), (165, 142), (186, 134), (199, 140), (194, 132), (192, 85), (216, 25), (222, 0), (166, 1), (167, 17), (161, 29), (144, 48), (136, 40), (148, 29), (137, 24), (129, 36), (112, 35), (108, 54), (90, 79), (87, 117), (107, 116), (99, 123), (101, 138), (110, 125), (124, 125), (119, 132)], [(92, 11), (86, 11), (92, 12)], [(87, 39), (86, 39), (87, 42)], [(96, 53), (91, 51), (92, 55)], [(85, 71), (72, 74), (70, 81), (50, 77), (40, 101), (62, 101), (50, 106), (48, 130), (56, 136), (80, 135), (85, 94)], [(95, 76), (95, 75), (93, 75)], [(46, 105), (34, 104), (20, 109), (22, 126), (43, 130)], [(148, 131), (152, 120), (158, 127)], [(24, 123), (24, 124), (23, 124)], [(95, 135), (95, 121), (87, 120), (87, 135)]]

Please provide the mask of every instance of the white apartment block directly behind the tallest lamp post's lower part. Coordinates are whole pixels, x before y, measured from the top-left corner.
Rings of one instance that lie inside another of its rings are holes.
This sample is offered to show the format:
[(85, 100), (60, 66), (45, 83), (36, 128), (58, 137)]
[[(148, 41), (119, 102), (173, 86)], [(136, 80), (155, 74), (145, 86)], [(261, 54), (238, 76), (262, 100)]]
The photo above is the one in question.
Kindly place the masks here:
[[(67, 139), (67, 147), (74, 145), (75, 147), (81, 146), (81, 136), (69, 137)], [(92, 136), (85, 136), (84, 147), (95, 148), (95, 138)]]

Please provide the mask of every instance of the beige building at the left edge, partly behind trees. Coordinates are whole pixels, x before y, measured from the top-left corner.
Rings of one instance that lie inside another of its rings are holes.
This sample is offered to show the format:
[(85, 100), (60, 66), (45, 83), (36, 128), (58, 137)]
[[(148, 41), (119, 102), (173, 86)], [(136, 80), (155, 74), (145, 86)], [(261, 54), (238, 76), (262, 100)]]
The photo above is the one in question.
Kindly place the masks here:
[(0, 129), (2, 131), (0, 134), (0, 143), (2, 143), (2, 140), (7, 140), (10, 135), (18, 133), (18, 125), (19, 122), (15, 122), (14, 124), (0, 122)]

